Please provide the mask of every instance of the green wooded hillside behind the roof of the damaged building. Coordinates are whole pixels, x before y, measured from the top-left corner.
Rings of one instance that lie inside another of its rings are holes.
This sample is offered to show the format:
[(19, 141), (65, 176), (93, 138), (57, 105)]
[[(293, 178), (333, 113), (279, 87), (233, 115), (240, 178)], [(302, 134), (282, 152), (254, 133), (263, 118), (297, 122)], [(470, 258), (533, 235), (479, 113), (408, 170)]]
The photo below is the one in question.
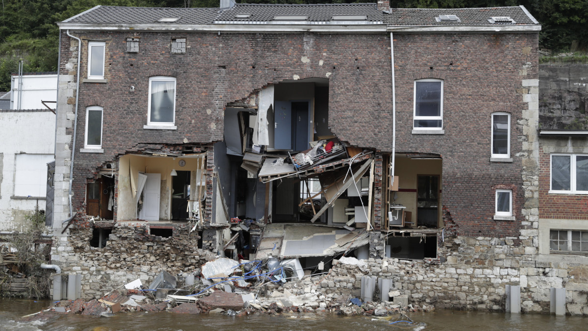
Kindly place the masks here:
[[(324, 4), (366, 0), (238, 0), (250, 4)], [(554, 53), (569, 51), (573, 41), (588, 41), (588, 0), (391, 0), (395, 8), (465, 8), (524, 5), (543, 25), (539, 42)], [(24, 61), (26, 72), (56, 71), (58, 27), (96, 5), (147, 7), (216, 7), (219, 0), (12, 0), (2, 1), (0, 91), (10, 88), (11, 73)]]

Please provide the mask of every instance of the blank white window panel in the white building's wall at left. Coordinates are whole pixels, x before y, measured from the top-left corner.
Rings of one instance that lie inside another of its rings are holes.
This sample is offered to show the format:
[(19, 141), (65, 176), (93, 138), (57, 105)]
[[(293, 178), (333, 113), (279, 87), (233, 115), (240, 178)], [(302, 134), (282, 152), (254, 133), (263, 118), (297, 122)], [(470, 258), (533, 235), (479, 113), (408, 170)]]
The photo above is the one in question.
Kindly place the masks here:
[(16, 154), (14, 196), (44, 198), (47, 193), (47, 163), (53, 160), (53, 154)]

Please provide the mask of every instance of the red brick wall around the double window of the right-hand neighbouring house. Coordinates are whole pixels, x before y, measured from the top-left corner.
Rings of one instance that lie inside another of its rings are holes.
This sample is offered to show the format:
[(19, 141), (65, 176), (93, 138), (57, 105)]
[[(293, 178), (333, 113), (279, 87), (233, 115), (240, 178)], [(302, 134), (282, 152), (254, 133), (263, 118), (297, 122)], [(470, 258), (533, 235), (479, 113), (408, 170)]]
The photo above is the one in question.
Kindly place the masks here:
[[(567, 140), (567, 138), (563, 138)], [(543, 148), (539, 154), (539, 217), (541, 219), (588, 220), (588, 196), (580, 194), (549, 194), (550, 153)], [(564, 153), (560, 151), (559, 153)]]

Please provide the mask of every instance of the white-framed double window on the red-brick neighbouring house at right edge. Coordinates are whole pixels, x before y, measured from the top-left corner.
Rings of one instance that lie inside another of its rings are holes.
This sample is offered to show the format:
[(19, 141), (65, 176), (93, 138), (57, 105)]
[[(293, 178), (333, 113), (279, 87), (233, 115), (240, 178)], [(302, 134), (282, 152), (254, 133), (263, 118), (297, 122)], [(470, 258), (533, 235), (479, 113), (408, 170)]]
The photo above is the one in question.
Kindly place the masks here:
[(588, 194), (588, 154), (551, 154), (549, 193)]

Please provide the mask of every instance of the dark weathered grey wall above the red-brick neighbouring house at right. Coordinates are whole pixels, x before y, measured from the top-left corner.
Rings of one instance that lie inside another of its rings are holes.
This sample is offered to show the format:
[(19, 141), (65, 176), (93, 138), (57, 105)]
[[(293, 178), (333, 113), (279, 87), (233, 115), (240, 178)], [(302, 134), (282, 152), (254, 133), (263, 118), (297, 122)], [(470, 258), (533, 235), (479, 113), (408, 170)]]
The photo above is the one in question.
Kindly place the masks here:
[(539, 125), (588, 129), (588, 64), (539, 65)]

